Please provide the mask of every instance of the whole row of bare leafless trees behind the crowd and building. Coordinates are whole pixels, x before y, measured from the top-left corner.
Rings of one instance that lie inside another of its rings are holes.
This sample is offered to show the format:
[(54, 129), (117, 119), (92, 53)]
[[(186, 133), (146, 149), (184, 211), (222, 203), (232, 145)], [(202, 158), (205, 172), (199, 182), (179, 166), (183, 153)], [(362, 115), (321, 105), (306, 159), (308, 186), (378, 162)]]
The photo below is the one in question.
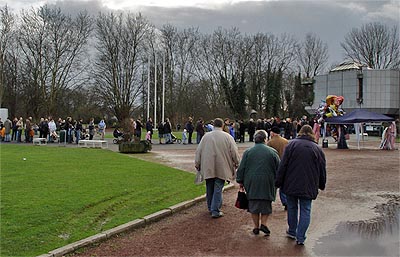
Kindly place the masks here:
[[(0, 31), (0, 105), (12, 116), (122, 121), (157, 108), (160, 120), (164, 101), (173, 123), (246, 119), (253, 110), (300, 117), (314, 100), (313, 77), (328, 68), (328, 45), (314, 33), (205, 34), (156, 28), (140, 13), (93, 17), (45, 5), (14, 14), (4, 6)], [(354, 28), (341, 44), (344, 58), (398, 69), (398, 36), (397, 26), (378, 22)]]

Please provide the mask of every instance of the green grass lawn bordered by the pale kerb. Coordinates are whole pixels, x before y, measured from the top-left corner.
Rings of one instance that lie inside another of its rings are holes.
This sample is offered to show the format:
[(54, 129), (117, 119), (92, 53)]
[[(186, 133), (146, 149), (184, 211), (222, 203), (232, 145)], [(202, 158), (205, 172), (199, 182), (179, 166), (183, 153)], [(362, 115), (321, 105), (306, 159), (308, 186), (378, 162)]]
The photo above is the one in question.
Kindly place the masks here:
[(108, 150), (2, 144), (0, 154), (1, 256), (40, 255), (205, 192), (194, 174)]

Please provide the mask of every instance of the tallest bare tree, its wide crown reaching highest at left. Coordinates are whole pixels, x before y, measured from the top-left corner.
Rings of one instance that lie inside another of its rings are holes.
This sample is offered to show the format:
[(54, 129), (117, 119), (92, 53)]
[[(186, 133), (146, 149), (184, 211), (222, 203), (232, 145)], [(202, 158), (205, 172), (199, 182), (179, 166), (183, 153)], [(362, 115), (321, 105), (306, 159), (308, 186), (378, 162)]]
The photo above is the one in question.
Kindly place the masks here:
[(82, 60), (91, 19), (86, 12), (72, 18), (45, 5), (23, 11), (21, 20), (18, 42), (29, 110), (35, 117), (57, 113), (57, 100), (65, 90), (83, 83)]

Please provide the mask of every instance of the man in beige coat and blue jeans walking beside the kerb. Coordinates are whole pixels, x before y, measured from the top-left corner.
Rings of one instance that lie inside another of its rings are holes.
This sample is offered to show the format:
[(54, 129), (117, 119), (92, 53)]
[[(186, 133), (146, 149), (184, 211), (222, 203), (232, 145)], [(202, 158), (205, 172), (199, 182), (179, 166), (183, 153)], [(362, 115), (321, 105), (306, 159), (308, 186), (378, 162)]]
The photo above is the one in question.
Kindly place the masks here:
[(206, 180), (206, 198), (211, 217), (223, 216), (222, 189), (233, 181), (240, 157), (232, 136), (222, 130), (223, 120), (214, 120), (214, 130), (201, 139), (196, 149), (195, 167)]

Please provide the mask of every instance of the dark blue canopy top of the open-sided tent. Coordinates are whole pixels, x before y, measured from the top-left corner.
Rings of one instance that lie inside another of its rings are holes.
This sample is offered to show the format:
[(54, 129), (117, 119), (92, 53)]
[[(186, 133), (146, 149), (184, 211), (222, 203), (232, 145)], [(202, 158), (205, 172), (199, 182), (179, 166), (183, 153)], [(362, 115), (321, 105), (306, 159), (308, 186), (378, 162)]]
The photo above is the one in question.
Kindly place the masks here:
[(325, 122), (332, 124), (353, 124), (353, 123), (380, 122), (380, 121), (394, 121), (394, 119), (383, 114), (369, 112), (363, 109), (356, 109), (342, 116), (336, 116), (325, 119)]

